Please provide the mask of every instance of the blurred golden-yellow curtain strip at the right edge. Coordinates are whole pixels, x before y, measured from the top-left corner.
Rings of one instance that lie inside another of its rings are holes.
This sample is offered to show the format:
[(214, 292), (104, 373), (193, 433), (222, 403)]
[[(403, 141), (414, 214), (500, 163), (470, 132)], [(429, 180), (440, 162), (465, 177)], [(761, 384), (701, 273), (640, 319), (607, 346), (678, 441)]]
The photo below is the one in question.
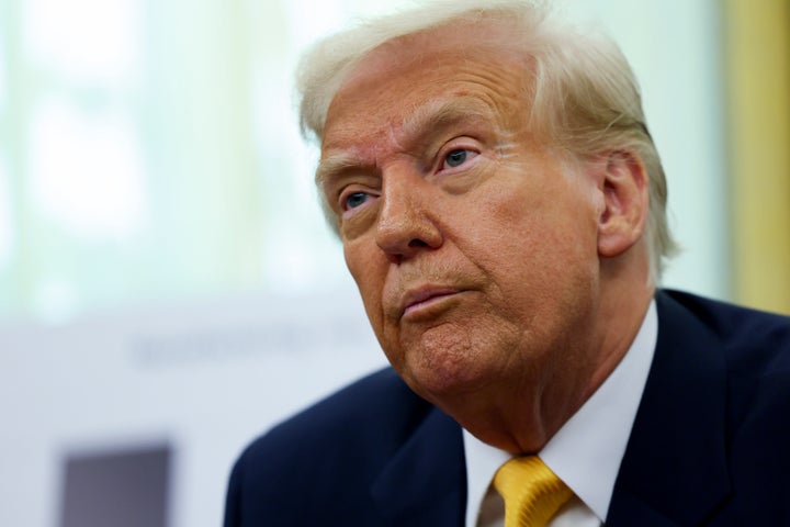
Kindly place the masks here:
[(790, 2), (723, 5), (735, 298), (790, 313)]

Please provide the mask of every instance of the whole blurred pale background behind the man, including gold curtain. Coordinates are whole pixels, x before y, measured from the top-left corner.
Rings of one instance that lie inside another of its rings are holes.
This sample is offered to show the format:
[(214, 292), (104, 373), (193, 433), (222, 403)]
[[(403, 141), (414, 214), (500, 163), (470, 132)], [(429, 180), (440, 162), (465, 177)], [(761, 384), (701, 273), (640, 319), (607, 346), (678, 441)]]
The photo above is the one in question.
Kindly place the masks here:
[[(0, 525), (219, 525), (257, 434), (384, 363), (300, 53), (385, 0), (0, 0)], [(684, 253), (790, 313), (790, 4), (566, 0), (632, 61)]]

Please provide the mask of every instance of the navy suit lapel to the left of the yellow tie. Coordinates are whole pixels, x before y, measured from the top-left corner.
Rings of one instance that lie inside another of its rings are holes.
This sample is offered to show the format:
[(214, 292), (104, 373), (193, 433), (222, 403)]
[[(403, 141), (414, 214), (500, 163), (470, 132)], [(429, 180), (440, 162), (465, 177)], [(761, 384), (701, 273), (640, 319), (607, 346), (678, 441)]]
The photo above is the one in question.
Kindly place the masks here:
[(433, 408), (371, 487), (393, 526), (463, 526), (466, 469), (461, 427)]

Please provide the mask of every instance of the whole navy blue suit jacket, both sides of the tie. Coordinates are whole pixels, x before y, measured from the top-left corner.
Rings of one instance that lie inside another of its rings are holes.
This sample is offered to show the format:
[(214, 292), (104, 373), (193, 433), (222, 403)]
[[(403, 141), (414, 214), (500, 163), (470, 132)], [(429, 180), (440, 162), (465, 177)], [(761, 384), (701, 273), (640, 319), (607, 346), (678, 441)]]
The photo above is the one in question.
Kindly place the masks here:
[[(659, 292), (658, 341), (609, 527), (790, 526), (790, 318)], [(225, 527), (460, 527), (460, 426), (391, 369), (273, 428)]]

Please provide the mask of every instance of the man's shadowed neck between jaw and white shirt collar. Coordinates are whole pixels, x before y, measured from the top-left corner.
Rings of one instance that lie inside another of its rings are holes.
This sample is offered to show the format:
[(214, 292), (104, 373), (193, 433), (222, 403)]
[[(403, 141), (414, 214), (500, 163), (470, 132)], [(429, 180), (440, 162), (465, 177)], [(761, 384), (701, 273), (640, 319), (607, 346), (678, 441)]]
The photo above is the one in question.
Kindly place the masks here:
[[(488, 445), (511, 453), (540, 451), (600, 388), (633, 344), (654, 294), (646, 269), (630, 266), (601, 273), (589, 337), (555, 352), (558, 360), (550, 365), (553, 373), (535, 373), (508, 386), (495, 404), (487, 401), (463, 415), (450, 413)], [(474, 408), (474, 396), (463, 404)]]

